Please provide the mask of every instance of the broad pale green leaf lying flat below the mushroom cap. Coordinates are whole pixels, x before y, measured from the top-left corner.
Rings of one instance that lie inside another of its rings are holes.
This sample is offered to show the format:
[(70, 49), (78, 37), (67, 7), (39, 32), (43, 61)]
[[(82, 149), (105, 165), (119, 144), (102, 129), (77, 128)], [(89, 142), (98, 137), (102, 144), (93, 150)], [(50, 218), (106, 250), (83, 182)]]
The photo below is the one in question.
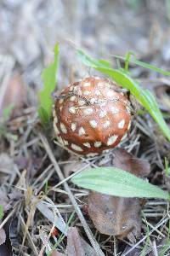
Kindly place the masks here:
[(82, 188), (92, 189), (107, 195), (169, 200), (166, 191), (129, 172), (114, 167), (90, 168), (78, 173), (71, 181)]

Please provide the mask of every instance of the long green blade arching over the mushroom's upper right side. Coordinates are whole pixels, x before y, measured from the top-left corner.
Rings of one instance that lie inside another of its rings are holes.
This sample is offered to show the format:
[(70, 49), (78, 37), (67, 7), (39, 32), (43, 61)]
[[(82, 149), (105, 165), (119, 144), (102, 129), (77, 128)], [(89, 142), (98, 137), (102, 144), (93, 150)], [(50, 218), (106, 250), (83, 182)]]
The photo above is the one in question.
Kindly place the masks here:
[(88, 67), (94, 67), (101, 73), (105, 73), (110, 76), (111, 79), (116, 81), (122, 87), (127, 88), (133, 96), (144, 106), (144, 108), (150, 113), (156, 123), (160, 126), (161, 131), (170, 141), (170, 130), (163, 119), (161, 111), (158, 107), (155, 97), (151, 94), (150, 90), (142, 89), (139, 84), (134, 81), (127, 73), (122, 72), (122, 70), (113, 69), (108, 67), (108, 64), (94, 60), (89, 55), (85, 54), (82, 49), (77, 51), (78, 56), (81, 58), (82, 62)]

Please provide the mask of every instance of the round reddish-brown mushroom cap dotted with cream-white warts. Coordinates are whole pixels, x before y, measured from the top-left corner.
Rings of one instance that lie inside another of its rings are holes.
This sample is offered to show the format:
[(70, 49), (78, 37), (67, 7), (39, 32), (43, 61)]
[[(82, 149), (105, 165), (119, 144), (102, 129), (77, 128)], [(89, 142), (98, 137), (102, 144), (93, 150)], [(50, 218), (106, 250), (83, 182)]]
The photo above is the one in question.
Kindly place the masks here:
[(89, 77), (71, 84), (54, 103), (59, 143), (77, 154), (94, 156), (114, 148), (127, 135), (130, 102), (116, 83)]

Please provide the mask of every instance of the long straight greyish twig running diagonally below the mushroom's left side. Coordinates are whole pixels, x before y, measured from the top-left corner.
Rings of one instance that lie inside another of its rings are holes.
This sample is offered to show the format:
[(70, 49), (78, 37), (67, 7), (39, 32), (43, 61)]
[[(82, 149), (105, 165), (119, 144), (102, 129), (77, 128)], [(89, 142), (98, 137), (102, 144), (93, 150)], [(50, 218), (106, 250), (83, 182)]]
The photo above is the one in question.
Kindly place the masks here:
[[(47, 151), (49, 159), (51, 160), (51, 162), (54, 165), (55, 171), (57, 172), (57, 174), (59, 176), (59, 179), (62, 181), (63, 179), (65, 179), (65, 177), (63, 176), (63, 174), (62, 174), (62, 172), (59, 168), (59, 165), (58, 165), (57, 161), (54, 158), (53, 151), (49, 146), (47, 138), (42, 133), (39, 133), (39, 137), (42, 140), (43, 146)], [(98, 242), (95, 240), (94, 235), (92, 234), (92, 231), (89, 229), (88, 224), (87, 224), (85, 218), (83, 217), (80, 208), (77, 205), (77, 201), (75, 200), (74, 195), (72, 195), (72, 193), (71, 193), (71, 189), (69, 188), (69, 186), (66, 182), (63, 185), (64, 185), (64, 188), (65, 188), (66, 192), (69, 195), (69, 198), (71, 200), (71, 203), (72, 203), (73, 207), (75, 208), (75, 210), (77, 212), (78, 218), (80, 218), (80, 221), (82, 223), (82, 226), (83, 226), (84, 230), (86, 231), (88, 239), (91, 242), (92, 246), (94, 247), (95, 252), (99, 256), (104, 256), (105, 254), (101, 251)]]

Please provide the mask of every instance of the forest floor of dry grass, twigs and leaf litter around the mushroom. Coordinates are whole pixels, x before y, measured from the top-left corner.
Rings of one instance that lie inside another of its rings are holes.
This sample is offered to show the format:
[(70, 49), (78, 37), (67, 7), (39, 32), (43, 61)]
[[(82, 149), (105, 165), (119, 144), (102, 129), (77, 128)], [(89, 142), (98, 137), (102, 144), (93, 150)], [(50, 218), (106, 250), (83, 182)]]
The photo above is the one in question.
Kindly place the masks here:
[[(77, 188), (70, 179), (88, 166), (107, 162), (114, 149), (93, 159), (80, 158), (54, 143), (53, 129), (45, 133), (38, 119), (41, 73), (52, 61), (57, 41), (60, 45), (58, 91), (86, 76), (101, 76), (80, 63), (72, 45), (86, 49), (94, 57), (110, 58), (115, 67), (111, 55), (125, 55), (133, 50), (139, 60), (169, 69), (168, 1), (163, 4), (155, 0), (89, 2), (8, 0), (0, 3), (2, 256), (48, 255), (55, 247), (53, 256), (62, 255), (65, 248), (72, 256), (170, 255), (167, 201), (145, 201), (141, 234), (135, 242), (102, 235), (94, 228), (87, 211), (89, 191)], [(143, 67), (130, 67), (133, 78), (154, 93), (170, 127), (170, 79)], [(129, 135), (120, 147), (150, 163), (150, 183), (161, 189), (170, 188), (170, 181), (165, 178), (170, 143), (149, 113), (134, 115)], [(68, 226), (73, 227), (69, 232)]]

